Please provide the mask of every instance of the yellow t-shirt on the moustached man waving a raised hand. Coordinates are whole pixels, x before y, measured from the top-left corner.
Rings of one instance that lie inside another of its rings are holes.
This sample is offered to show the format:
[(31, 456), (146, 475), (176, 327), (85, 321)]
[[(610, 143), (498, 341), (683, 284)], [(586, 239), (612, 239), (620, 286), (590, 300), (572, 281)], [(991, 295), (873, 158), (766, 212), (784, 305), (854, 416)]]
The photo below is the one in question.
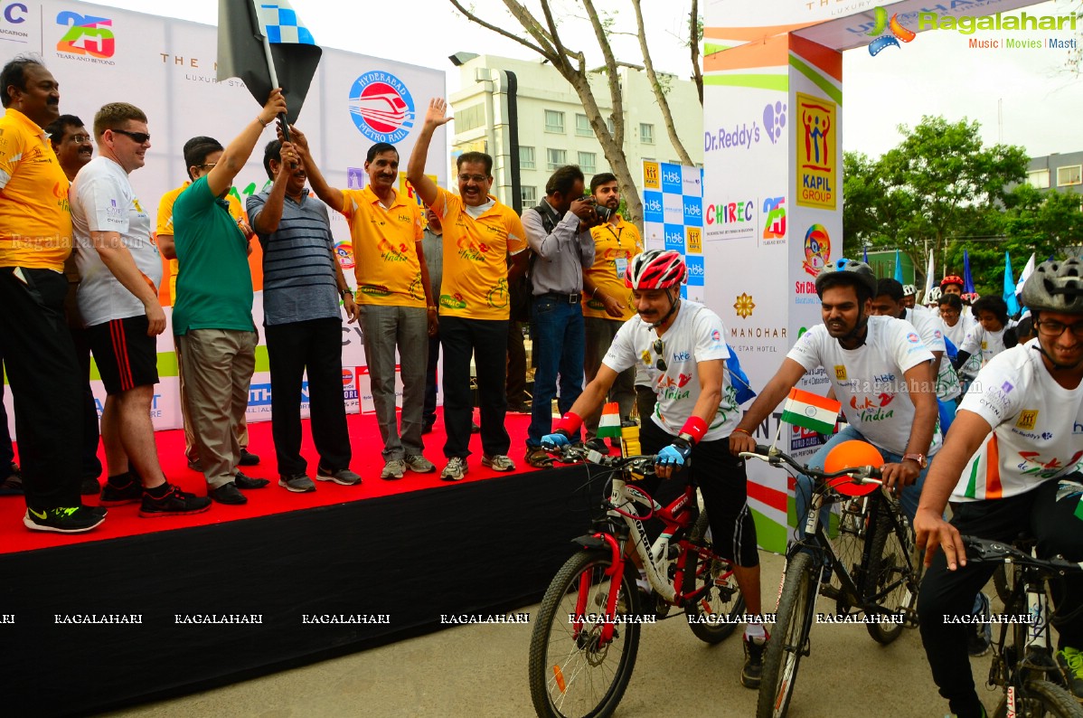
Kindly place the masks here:
[(436, 190), (432, 209), (444, 227), (440, 313), (468, 319), (507, 319), (507, 257), (526, 248), (523, 223), (499, 201), (474, 219), (467, 213), (461, 197), (443, 187)]

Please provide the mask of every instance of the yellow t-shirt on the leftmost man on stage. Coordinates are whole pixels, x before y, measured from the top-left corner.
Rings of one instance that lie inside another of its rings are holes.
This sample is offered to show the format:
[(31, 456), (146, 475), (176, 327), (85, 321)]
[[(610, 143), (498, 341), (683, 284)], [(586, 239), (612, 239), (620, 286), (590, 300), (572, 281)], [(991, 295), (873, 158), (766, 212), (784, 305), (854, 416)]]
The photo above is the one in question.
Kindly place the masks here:
[(9, 107), (0, 117), (0, 266), (64, 271), (68, 184), (44, 130)]

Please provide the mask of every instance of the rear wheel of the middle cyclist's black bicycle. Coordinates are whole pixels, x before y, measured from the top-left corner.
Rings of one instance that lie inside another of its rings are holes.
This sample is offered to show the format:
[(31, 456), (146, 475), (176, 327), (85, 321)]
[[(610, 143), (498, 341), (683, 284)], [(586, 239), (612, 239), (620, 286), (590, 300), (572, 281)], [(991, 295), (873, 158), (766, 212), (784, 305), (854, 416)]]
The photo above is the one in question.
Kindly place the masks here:
[[(916, 597), (910, 595), (910, 557), (905, 546), (899, 538), (892, 521), (891, 507), (888, 500), (878, 501), (876, 509), (876, 527), (873, 531), (872, 547), (869, 550), (869, 567), (865, 570), (864, 583), (861, 586), (862, 598), (884, 593), (874, 603), (888, 611), (902, 615), (903, 605)], [(893, 586), (893, 588), (888, 588)], [(887, 591), (885, 593), (885, 591)], [(869, 612), (866, 612), (866, 615)], [(872, 615), (884, 616), (875, 613)], [(902, 623), (865, 624), (869, 635), (877, 643), (887, 645), (902, 635)]]

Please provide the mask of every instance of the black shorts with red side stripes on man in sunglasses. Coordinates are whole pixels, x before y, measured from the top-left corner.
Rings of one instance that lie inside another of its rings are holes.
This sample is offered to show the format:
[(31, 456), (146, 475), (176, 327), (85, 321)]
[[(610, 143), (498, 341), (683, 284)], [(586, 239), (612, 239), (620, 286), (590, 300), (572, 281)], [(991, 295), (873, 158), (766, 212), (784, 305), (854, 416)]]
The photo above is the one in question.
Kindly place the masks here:
[(158, 339), (146, 336), (146, 315), (87, 327), (87, 341), (106, 394), (158, 383)]

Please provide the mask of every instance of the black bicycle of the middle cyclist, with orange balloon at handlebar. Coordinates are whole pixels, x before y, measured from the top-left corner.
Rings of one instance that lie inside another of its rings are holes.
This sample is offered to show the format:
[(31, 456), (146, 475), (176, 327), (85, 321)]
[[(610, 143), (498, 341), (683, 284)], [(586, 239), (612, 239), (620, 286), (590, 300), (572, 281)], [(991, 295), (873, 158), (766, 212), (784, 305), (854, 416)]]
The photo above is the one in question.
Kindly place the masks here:
[[(923, 566), (914, 549), (910, 522), (899, 502), (883, 487), (860, 501), (838, 492), (847, 483), (879, 485), (878, 469), (866, 466), (825, 472), (762, 445), (741, 456), (804, 473), (817, 482), (805, 518), (807, 537), (786, 551), (774, 632), (764, 653), (756, 716), (781, 718), (790, 708), (800, 660), (811, 652), (809, 634), (815, 617), (817, 593), (834, 598), (841, 615), (863, 612), (862, 623), (870, 636), (887, 644), (905, 626), (917, 625), (915, 609)], [(846, 504), (840, 535), (843, 543), (854, 545), (847, 549), (849, 553), (839, 551), (820, 521), (820, 509), (836, 502)], [(837, 585), (830, 583), (833, 576)]]

